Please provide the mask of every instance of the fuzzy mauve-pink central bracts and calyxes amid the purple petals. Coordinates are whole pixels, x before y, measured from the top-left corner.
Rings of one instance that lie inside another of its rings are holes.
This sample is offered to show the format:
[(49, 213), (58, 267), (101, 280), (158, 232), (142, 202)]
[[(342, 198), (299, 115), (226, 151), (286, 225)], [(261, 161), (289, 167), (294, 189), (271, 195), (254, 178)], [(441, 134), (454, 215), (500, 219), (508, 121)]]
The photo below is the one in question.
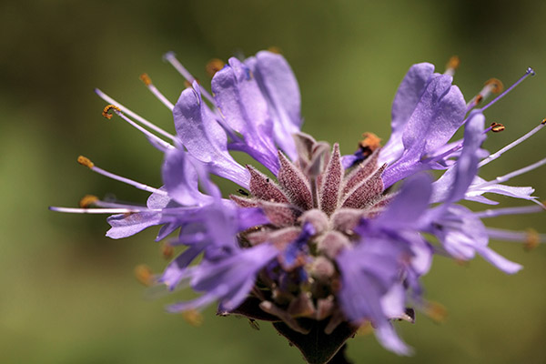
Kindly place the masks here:
[(339, 288), (335, 258), (359, 238), (354, 228), (362, 218), (379, 214), (392, 195), (384, 193), (381, 174), (386, 166), (378, 166), (379, 150), (348, 172), (337, 144), (330, 153), (326, 143), (299, 135), (298, 152), (296, 163), (278, 153), (277, 182), (247, 166), (249, 196), (231, 199), (239, 207), (261, 208), (270, 222), (239, 234), (241, 247), (268, 242), (281, 252), (260, 275), (268, 291), (264, 300), (283, 307), (305, 293), (313, 305), (298, 309), (318, 308), (319, 301), (331, 301)]

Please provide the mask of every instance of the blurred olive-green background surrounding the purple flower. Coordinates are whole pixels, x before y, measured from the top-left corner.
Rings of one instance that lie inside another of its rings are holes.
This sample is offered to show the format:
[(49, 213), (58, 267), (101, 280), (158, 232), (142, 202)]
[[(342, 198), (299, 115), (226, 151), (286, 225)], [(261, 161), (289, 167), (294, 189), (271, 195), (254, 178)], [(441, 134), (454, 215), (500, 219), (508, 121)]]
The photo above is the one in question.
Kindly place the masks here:
[[(104, 238), (101, 216), (63, 215), (87, 193), (145, 201), (145, 193), (78, 166), (83, 154), (100, 167), (159, 186), (162, 156), (129, 126), (100, 113), (99, 86), (126, 106), (172, 130), (172, 116), (138, 80), (147, 72), (176, 100), (181, 76), (168, 50), (208, 82), (213, 57), (252, 55), (278, 46), (298, 76), (304, 131), (339, 141), (389, 136), (392, 97), (410, 65), (443, 71), (461, 58), (455, 82), (470, 99), (492, 76), (511, 84), (527, 66), (537, 76), (491, 107), (506, 125), (490, 136), (494, 151), (546, 116), (546, 3), (511, 1), (15, 1), (0, 3), (0, 362), (2, 363), (278, 363), (300, 362), (296, 349), (267, 324), (214, 310), (191, 327), (148, 299), (133, 276), (166, 261), (153, 242)], [(544, 157), (544, 135), (484, 168), (491, 178)], [(546, 197), (544, 168), (513, 181)], [(227, 191), (228, 192), (228, 191)], [(502, 199), (504, 206), (519, 201)], [(521, 204), (520, 204), (521, 205)], [(544, 215), (497, 218), (490, 226), (545, 231)], [(424, 278), (427, 298), (449, 309), (438, 325), (420, 315), (400, 324), (415, 349), (399, 358), (370, 336), (349, 341), (356, 363), (546, 362), (546, 247), (491, 242), (525, 266), (508, 277), (477, 258), (460, 266), (437, 258)], [(178, 298), (188, 297), (182, 294)]]

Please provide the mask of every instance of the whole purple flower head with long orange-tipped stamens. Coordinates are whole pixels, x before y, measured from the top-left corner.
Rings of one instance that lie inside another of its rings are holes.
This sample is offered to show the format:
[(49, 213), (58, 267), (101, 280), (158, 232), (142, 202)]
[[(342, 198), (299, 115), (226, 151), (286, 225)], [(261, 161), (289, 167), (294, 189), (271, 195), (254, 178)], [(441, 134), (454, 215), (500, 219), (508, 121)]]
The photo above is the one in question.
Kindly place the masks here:
[[(176, 135), (96, 90), (110, 104), (104, 116), (126, 120), (165, 154), (164, 186), (137, 183), (79, 157), (97, 173), (150, 192), (147, 205), (86, 197), (82, 208), (51, 208), (114, 214), (107, 219), (110, 238), (160, 226), (157, 240), (169, 237), (169, 246), (185, 247), (156, 284), (171, 290), (190, 286), (202, 294), (168, 311), (217, 302), (220, 315), (271, 321), (312, 363), (328, 362), (366, 323), (385, 348), (407, 355), (410, 348), (393, 321), (412, 321), (414, 308), (427, 309), (420, 277), (434, 255), (480, 255), (512, 274), (521, 266), (492, 250), (490, 238), (545, 240), (482, 222), (544, 208), (531, 187), (504, 183), (546, 159), (490, 181), (479, 177), (481, 167), (546, 123), (497, 153), (481, 148), (488, 133), (503, 128), (486, 126), (483, 112), (533, 75), (531, 68), (503, 93), (500, 81), (491, 80), (467, 103), (452, 85), (456, 62), (444, 74), (427, 63), (411, 66), (394, 99), (389, 141), (381, 147), (368, 133), (353, 155), (341, 156), (338, 144), (330, 147), (301, 132), (298, 83), (282, 56), (263, 51), (245, 60), (230, 58), (225, 66), (213, 62), (211, 94), (173, 54), (166, 60), (188, 82), (176, 104), (149, 77), (142, 79), (172, 110)], [(494, 93), (501, 95), (478, 108)], [(460, 128), (462, 139), (451, 140)], [(248, 154), (257, 167), (240, 165), (230, 151)], [(429, 170), (441, 176), (433, 180)], [(238, 184), (239, 193), (223, 197), (211, 174)], [(530, 203), (478, 212), (460, 204), (497, 204), (484, 194)]]

